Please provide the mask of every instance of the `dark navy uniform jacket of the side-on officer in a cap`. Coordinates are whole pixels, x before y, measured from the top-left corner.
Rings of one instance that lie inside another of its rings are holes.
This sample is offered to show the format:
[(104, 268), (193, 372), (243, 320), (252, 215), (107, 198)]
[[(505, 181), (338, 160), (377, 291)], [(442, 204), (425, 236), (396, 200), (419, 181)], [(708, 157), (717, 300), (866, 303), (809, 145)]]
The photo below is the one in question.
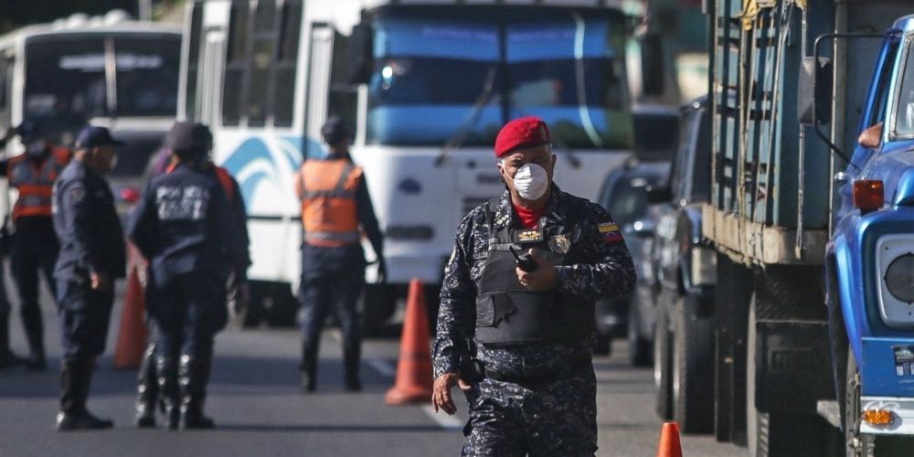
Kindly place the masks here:
[(55, 276), (85, 280), (90, 272), (124, 276), (126, 253), (111, 187), (80, 161), (54, 183), (54, 230), (60, 241)]

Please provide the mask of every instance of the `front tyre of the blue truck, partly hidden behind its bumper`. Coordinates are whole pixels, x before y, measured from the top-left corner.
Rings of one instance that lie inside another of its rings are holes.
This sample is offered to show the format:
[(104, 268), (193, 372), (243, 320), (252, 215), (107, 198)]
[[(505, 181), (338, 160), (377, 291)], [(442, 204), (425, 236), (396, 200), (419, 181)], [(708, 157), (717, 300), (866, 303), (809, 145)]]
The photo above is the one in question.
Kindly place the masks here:
[(847, 349), (845, 377), (845, 444), (847, 457), (909, 456), (914, 439), (908, 437), (877, 437), (860, 433), (860, 372), (854, 350)]

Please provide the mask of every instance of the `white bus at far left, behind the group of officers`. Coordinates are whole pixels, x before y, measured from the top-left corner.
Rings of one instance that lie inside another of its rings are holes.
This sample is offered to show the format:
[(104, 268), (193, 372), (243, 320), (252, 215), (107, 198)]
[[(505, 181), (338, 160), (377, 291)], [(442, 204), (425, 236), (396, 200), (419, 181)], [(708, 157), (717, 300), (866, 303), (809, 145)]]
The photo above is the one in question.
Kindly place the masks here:
[(180, 27), (133, 21), (120, 10), (10, 32), (0, 37), (0, 133), (37, 121), (52, 141), (70, 146), (88, 122), (109, 127), (127, 143), (112, 188), (130, 200), (175, 121), (180, 52)]

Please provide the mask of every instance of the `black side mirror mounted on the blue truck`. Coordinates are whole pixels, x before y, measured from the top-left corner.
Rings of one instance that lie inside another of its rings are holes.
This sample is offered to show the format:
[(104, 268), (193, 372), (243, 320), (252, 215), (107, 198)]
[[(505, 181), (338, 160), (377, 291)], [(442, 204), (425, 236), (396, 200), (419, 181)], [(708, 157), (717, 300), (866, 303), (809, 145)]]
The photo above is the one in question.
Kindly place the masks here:
[(803, 58), (797, 116), (803, 125), (832, 122), (832, 77), (834, 68), (828, 58)]

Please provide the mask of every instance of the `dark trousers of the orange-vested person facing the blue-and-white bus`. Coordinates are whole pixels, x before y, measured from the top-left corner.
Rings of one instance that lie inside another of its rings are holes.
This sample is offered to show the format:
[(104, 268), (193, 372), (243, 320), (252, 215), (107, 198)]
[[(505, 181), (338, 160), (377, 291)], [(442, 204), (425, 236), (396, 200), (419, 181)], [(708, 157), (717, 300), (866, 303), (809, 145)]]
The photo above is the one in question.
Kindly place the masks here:
[[(307, 261), (307, 259), (305, 260)], [(347, 264), (346, 264), (347, 263)], [(364, 260), (334, 265), (326, 270), (314, 270), (314, 265), (303, 274), (299, 291), (299, 304), (304, 306), (303, 370), (314, 371), (327, 314), (336, 311), (343, 330), (343, 355), (347, 376), (357, 376), (362, 335), (358, 323), (358, 297), (365, 285)], [(335, 304), (339, 306), (335, 306)], [(311, 367), (309, 367), (311, 366)]]

